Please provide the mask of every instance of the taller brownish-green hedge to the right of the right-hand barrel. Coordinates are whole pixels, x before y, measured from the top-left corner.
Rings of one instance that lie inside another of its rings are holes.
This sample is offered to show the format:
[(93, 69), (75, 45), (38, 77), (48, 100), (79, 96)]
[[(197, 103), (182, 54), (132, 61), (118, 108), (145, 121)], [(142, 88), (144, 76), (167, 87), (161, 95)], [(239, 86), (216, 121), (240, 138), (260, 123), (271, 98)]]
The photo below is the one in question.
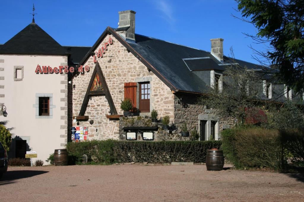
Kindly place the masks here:
[(304, 164), (304, 132), (243, 126), (222, 131), (226, 160), (237, 168), (288, 168), (287, 160)]

